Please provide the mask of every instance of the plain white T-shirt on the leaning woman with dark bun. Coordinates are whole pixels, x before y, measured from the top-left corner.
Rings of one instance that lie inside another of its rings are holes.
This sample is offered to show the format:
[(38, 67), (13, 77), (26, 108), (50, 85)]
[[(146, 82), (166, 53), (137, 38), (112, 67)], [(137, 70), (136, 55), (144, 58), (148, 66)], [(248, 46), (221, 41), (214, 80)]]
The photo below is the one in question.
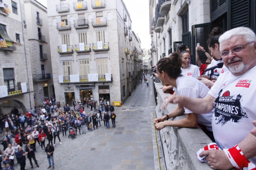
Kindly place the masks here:
[[(209, 88), (204, 83), (190, 76), (177, 77), (176, 83), (177, 88), (175, 92), (177, 95), (183, 95), (190, 98), (204, 98), (207, 95), (207, 92), (209, 91)], [(184, 109), (186, 114), (193, 113), (185, 107)], [(211, 119), (213, 113), (214, 109), (206, 114), (197, 114), (198, 122), (202, 125), (205, 125), (207, 130), (210, 131), (212, 131)]]

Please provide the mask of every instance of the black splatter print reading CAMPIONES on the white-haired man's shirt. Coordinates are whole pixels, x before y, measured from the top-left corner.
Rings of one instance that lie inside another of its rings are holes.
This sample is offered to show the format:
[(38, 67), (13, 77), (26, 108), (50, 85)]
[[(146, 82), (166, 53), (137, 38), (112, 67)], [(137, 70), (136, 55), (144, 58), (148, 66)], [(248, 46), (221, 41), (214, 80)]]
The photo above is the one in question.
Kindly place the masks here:
[(241, 107), (242, 96), (240, 94), (230, 95), (230, 91), (227, 90), (220, 96), (221, 92), (222, 89), (214, 102), (216, 124), (223, 126), (228, 121), (239, 123), (242, 118), (248, 118)]

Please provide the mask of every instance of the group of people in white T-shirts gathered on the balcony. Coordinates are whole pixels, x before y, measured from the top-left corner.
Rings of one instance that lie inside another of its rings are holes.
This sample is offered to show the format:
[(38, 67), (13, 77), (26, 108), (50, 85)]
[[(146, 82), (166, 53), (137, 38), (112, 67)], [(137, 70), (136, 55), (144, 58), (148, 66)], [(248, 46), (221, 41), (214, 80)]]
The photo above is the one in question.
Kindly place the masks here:
[[(256, 169), (255, 33), (246, 27), (224, 33), (214, 28), (207, 44), (209, 53), (200, 45), (196, 47), (198, 66), (190, 63), (187, 47), (158, 61), (155, 75), (164, 84), (163, 91), (171, 94), (162, 103), (162, 110), (168, 103), (178, 106), (154, 119), (155, 127), (199, 125), (213, 141), (197, 152), (199, 161), (213, 169)], [(199, 51), (207, 57), (205, 64)], [(210, 71), (205, 72), (206, 68)], [(184, 112), (186, 118), (168, 120)]]

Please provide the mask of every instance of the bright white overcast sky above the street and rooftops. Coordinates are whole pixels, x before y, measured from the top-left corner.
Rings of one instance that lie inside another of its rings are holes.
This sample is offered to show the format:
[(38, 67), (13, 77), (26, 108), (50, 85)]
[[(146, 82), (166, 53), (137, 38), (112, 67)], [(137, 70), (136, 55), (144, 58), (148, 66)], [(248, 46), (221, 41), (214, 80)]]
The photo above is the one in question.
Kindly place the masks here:
[[(37, 0), (47, 7), (47, 0)], [(148, 0), (123, 0), (132, 20), (132, 30), (141, 40), (141, 48), (151, 48)]]

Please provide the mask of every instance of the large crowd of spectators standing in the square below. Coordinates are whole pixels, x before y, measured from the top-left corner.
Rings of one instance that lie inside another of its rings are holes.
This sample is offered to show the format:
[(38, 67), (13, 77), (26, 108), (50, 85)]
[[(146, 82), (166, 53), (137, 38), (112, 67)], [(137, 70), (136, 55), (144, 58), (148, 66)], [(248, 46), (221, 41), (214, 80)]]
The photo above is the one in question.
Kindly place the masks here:
[[(110, 119), (112, 128), (115, 128), (114, 106), (112, 104), (108, 106), (107, 101), (103, 102), (103, 99), (100, 98), (98, 109), (96, 109), (96, 102), (87, 100), (84, 104), (87, 105), (87, 108), (91, 108), (91, 112), (87, 114), (83, 104), (80, 104), (81, 99), (78, 102), (73, 99), (74, 109), (70, 108), (69, 104), (64, 104), (61, 109), (56, 105), (54, 98), (45, 98), (40, 107), (35, 106), (35, 109), (31, 108), (25, 114), (14, 108), (5, 117), (1, 115), (0, 133), (4, 133), (4, 136), (0, 141), (3, 145), (0, 155), (4, 156), (4, 160), (0, 156), (0, 169), (2, 169), (1, 162), (7, 169), (13, 169), (14, 156), (20, 164), (21, 170), (24, 170), (26, 166), (25, 156), (29, 159), (31, 168), (34, 168), (32, 159), (39, 167), (35, 154), (38, 152), (38, 148), (47, 154), (48, 169), (51, 167), (54, 169), (53, 152), (56, 139), (59, 144), (62, 144), (61, 132), (62, 137), (65, 135), (65, 137), (73, 139), (73, 136), (77, 136), (78, 133), (79, 135), (86, 134), (86, 126), (88, 131), (92, 131), (92, 128), (95, 130), (95, 127), (98, 129), (101, 126), (101, 121), (104, 122), (106, 129), (110, 129)], [(14, 138), (14, 143), (12, 138)]]

